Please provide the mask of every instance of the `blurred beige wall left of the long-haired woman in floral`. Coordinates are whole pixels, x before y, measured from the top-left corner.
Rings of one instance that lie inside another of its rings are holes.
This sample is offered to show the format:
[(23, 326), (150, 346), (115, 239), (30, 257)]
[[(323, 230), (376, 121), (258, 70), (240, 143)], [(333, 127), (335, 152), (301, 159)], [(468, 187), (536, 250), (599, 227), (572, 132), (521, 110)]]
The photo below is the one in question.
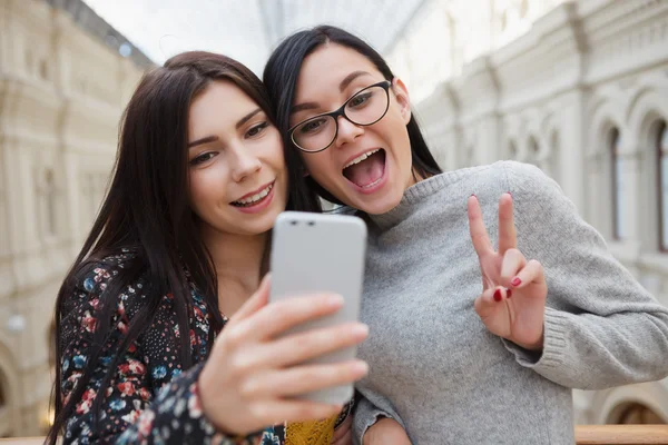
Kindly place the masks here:
[(0, 437), (48, 425), (55, 296), (102, 197), (140, 76), (63, 11), (0, 0)]

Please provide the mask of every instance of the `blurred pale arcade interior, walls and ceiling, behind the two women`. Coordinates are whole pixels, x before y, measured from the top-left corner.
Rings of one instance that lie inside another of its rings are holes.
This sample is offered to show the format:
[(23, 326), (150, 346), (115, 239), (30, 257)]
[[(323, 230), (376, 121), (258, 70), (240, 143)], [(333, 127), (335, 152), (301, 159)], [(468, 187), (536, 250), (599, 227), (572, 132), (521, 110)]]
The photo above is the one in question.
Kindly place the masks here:
[[(668, 304), (667, 0), (0, 0), (0, 437), (51, 422), (55, 297), (143, 72), (205, 49), (259, 75), (318, 23), (387, 58), (444, 169), (536, 164)], [(581, 424), (668, 423), (668, 382), (574, 404)]]

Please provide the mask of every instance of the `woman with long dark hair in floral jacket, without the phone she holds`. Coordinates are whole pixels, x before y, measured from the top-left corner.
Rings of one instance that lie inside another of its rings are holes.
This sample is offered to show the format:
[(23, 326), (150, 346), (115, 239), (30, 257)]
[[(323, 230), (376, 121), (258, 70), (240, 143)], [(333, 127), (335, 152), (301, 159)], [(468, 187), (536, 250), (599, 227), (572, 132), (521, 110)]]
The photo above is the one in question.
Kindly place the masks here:
[(354, 382), (366, 365), (298, 364), (358, 344), (366, 327), (276, 339), (342, 301), (267, 305), (261, 285), (269, 230), (293, 206), (283, 156), (266, 91), (243, 65), (187, 52), (143, 78), (109, 191), (58, 295), (48, 443), (276, 445), (284, 421), (341, 423), (342, 406), (292, 396)]

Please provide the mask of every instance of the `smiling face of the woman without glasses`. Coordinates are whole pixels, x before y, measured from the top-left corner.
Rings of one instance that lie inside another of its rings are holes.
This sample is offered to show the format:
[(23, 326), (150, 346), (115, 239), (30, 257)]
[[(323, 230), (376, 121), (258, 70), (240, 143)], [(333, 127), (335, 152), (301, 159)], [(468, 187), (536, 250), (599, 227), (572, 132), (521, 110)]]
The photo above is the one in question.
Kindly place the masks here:
[(189, 198), (203, 229), (268, 231), (286, 205), (281, 135), (230, 81), (214, 81), (190, 105)]

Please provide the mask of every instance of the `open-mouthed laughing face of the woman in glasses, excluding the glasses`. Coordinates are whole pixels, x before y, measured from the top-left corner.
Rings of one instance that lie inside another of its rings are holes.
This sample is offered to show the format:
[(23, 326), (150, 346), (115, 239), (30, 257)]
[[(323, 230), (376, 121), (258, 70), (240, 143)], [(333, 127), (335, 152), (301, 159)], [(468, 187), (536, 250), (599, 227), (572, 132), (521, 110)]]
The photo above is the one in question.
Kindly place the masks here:
[[(364, 88), (384, 81), (360, 52), (336, 43), (324, 44), (304, 59), (291, 127), (336, 110)], [(406, 123), (411, 119), (407, 91), (401, 80), (390, 88), (387, 111), (370, 126), (340, 116), (338, 134), (330, 147), (303, 152), (308, 174), (342, 202), (369, 214), (394, 208), (415, 180)], [(362, 101), (353, 101), (358, 107)], [(346, 113), (352, 117), (346, 106)], [(315, 127), (306, 127), (313, 130)]]

